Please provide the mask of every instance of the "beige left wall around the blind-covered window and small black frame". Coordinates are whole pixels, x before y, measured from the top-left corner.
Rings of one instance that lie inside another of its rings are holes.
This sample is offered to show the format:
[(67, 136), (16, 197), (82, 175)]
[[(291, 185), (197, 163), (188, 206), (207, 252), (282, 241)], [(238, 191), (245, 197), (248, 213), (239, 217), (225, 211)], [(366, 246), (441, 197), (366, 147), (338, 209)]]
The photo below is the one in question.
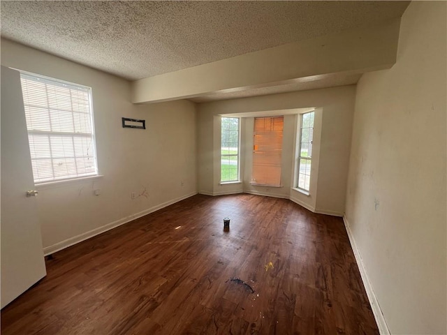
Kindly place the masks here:
[[(9, 40), (1, 40), (1, 64), (92, 88), (103, 177), (38, 187), (46, 253), (197, 193), (195, 104), (133, 105), (126, 80)], [(147, 129), (122, 128), (122, 117), (145, 119)], [(144, 188), (147, 198), (131, 199)]]

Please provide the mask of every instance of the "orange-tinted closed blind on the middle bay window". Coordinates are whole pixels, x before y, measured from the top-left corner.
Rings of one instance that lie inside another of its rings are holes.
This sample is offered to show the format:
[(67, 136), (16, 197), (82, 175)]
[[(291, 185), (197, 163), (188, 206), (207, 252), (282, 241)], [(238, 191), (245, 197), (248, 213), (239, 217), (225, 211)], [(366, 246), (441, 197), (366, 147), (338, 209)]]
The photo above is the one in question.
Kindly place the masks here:
[(254, 119), (251, 184), (281, 186), (281, 155), (284, 117)]

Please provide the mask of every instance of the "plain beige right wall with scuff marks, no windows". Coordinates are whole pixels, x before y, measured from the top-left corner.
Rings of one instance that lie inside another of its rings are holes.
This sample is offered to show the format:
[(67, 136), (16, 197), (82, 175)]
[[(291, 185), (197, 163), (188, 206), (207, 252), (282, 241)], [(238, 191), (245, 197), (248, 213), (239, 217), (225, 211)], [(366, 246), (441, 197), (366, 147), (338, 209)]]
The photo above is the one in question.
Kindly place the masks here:
[(446, 334), (446, 2), (402, 17), (358, 83), (346, 218), (391, 334)]

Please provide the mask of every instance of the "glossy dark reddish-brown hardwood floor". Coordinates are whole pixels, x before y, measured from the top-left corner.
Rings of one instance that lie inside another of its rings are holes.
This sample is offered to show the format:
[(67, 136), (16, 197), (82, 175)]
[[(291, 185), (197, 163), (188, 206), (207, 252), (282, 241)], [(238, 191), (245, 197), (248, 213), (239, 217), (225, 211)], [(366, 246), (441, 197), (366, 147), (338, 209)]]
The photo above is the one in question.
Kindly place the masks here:
[(2, 335), (379, 334), (342, 219), (289, 200), (195, 195), (53, 256)]

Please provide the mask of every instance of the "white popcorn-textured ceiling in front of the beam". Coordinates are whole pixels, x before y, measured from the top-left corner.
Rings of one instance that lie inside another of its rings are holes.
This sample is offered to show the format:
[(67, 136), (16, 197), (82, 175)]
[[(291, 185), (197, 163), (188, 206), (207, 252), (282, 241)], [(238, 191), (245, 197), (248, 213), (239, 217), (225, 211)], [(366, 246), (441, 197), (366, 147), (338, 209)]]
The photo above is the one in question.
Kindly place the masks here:
[(408, 1), (1, 1), (1, 35), (136, 80), (400, 17), (406, 6)]

